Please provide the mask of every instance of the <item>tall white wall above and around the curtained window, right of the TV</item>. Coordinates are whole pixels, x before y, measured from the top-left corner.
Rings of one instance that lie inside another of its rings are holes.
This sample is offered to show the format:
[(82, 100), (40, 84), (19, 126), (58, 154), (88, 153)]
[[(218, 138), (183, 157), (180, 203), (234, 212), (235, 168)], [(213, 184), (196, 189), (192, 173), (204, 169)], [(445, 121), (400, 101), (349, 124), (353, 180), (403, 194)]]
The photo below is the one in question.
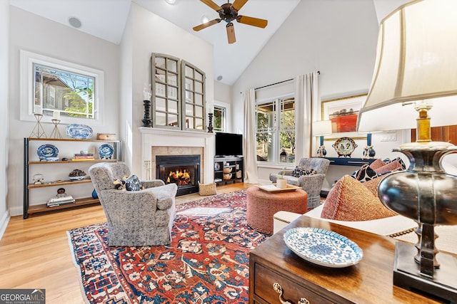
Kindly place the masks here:
[[(319, 70), (321, 100), (368, 92), (376, 58), (378, 17), (373, 1), (302, 0), (261, 53), (233, 85), (233, 108), (242, 109), (241, 91), (293, 78)], [(313, 120), (320, 120), (313, 117)], [(233, 115), (233, 125), (243, 125), (243, 115)], [(300, 136), (300, 133), (298, 133)], [(391, 157), (391, 147), (403, 142), (403, 133), (396, 142), (380, 145), (373, 135), (378, 157)], [(336, 152), (326, 141), (328, 157)], [(361, 157), (366, 142), (358, 142), (353, 157)], [(341, 167), (328, 172), (324, 189), (341, 177)], [(346, 168), (346, 170), (352, 170)], [(333, 172), (334, 171), (334, 172)], [(268, 182), (268, 174), (278, 168), (258, 169), (260, 182)]]

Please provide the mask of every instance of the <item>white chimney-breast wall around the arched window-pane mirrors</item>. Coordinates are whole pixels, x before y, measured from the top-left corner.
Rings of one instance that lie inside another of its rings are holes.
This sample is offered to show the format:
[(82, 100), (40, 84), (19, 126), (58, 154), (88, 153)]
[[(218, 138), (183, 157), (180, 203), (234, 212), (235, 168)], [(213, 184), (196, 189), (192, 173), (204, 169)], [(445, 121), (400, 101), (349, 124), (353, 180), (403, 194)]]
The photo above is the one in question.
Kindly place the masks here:
[[(141, 149), (139, 148), (141, 147), (141, 133), (138, 128), (143, 124), (141, 120), (144, 117), (144, 83), (151, 83), (151, 53), (165, 53), (175, 56), (204, 70), (206, 74), (206, 103), (209, 107), (214, 102), (213, 46), (160, 16), (143, 9), (134, 2), (131, 4), (129, 23), (131, 23), (131, 27), (128, 26), (127, 28), (131, 33), (125, 32), (124, 38), (129, 37), (131, 39), (131, 58), (124, 58), (124, 56), (130, 55), (123, 53), (121, 61), (131, 61), (132, 91), (131, 98), (125, 94), (126, 99), (121, 100), (121, 103), (127, 103), (127, 105), (131, 103), (132, 112), (131, 120), (129, 117), (121, 122), (121, 128), (131, 129), (131, 147), (126, 147), (126, 150), (131, 150), (131, 154), (126, 155), (129, 157), (126, 160), (131, 162), (132, 172), (141, 172), (143, 159), (141, 159)], [(121, 70), (121, 73), (124, 73), (124, 70)], [(124, 123), (130, 125), (124, 125)]]

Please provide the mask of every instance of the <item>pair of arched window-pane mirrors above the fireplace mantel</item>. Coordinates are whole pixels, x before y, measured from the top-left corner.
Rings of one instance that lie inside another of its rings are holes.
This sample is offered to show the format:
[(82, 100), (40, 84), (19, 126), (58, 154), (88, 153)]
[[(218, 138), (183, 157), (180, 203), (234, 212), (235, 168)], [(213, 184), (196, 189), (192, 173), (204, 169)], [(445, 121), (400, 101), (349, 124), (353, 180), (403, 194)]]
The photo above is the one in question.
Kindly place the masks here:
[(206, 130), (205, 73), (179, 58), (152, 53), (152, 127)]

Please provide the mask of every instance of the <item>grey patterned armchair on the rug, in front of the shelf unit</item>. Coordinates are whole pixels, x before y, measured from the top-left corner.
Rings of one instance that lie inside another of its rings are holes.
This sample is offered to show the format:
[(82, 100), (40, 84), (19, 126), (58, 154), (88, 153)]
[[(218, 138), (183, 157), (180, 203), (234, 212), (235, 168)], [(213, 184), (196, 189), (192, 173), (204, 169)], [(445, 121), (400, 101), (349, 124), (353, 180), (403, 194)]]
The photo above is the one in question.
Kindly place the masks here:
[(130, 175), (124, 162), (101, 162), (89, 175), (108, 221), (109, 246), (159, 246), (171, 243), (176, 184), (141, 181), (144, 189), (116, 189), (115, 179)]

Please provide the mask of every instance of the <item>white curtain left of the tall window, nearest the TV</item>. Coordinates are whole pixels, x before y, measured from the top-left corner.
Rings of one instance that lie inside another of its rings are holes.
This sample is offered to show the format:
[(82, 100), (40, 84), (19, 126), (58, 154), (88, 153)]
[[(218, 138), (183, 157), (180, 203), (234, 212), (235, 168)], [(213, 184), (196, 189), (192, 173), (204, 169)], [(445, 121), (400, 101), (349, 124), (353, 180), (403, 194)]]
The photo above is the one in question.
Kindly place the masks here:
[(243, 92), (244, 105), (244, 182), (258, 184), (256, 154), (256, 93), (253, 88)]

